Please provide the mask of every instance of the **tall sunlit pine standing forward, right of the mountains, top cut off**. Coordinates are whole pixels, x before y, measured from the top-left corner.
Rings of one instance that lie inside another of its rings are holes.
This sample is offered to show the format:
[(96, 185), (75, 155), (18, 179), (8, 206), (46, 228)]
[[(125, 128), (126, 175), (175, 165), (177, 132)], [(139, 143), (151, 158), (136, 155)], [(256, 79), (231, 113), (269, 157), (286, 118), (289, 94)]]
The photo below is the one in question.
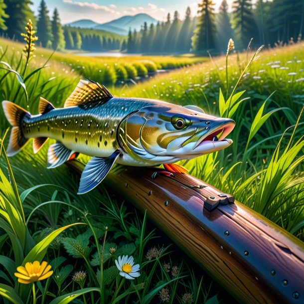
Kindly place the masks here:
[(198, 4), (199, 17), (192, 37), (192, 50), (194, 52), (215, 47), (216, 27), (213, 6), (212, 0), (203, 0), (202, 3)]

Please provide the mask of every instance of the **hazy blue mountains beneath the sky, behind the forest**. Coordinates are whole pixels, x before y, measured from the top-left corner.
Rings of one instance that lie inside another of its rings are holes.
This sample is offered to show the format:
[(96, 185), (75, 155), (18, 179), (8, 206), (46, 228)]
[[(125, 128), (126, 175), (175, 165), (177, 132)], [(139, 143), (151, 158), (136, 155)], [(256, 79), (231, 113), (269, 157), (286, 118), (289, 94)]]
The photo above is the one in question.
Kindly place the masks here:
[(139, 31), (144, 22), (147, 22), (148, 25), (150, 25), (151, 23), (157, 23), (157, 20), (146, 13), (140, 13), (134, 16), (123, 16), (106, 23), (97, 23), (92, 20), (83, 19), (66, 25), (81, 28), (102, 29), (120, 35), (127, 35), (130, 27), (132, 30), (136, 29)]

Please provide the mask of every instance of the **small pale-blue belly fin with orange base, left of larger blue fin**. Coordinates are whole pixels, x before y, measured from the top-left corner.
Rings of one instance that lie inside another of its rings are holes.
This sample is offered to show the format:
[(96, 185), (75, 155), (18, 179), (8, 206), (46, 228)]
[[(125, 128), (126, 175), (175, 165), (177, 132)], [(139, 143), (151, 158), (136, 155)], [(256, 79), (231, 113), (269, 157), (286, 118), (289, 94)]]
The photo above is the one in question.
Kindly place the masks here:
[(47, 151), (47, 168), (56, 168), (74, 157), (75, 151), (67, 149), (61, 143), (53, 144), (48, 148)]

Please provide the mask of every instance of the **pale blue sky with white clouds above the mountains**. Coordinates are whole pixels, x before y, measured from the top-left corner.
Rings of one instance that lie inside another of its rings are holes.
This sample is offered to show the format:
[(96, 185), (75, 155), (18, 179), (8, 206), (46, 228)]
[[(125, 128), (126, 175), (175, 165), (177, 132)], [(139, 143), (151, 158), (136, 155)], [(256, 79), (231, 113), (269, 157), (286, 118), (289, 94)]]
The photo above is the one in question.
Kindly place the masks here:
[[(213, 0), (217, 10), (222, 0)], [(233, 0), (227, 0), (231, 6)], [(32, 0), (37, 15), (40, 0)], [(59, 11), (61, 23), (69, 23), (79, 19), (91, 19), (104, 23), (124, 15), (147, 13), (157, 20), (163, 21), (168, 12), (173, 15), (177, 10), (183, 19), (187, 6), (190, 6), (192, 15), (196, 14), (197, 1), (195, 0), (45, 0), (52, 15), (54, 8)]]

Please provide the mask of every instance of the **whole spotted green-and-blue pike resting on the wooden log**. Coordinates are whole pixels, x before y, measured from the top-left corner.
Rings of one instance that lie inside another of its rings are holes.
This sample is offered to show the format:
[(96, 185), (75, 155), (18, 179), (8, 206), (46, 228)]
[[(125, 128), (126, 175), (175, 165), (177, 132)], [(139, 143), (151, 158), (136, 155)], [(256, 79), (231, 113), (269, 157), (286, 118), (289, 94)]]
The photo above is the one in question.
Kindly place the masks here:
[[(78, 194), (86, 193), (107, 176), (114, 163), (174, 169), (174, 162), (229, 147), (235, 122), (217, 118), (194, 105), (114, 97), (105, 86), (80, 80), (63, 108), (40, 97), (39, 114), (2, 101), (12, 126), (7, 155), (18, 153), (33, 138), (37, 153), (49, 138), (47, 168), (55, 168), (79, 153), (92, 156), (80, 178)], [(177, 170), (177, 172), (180, 172)]]

